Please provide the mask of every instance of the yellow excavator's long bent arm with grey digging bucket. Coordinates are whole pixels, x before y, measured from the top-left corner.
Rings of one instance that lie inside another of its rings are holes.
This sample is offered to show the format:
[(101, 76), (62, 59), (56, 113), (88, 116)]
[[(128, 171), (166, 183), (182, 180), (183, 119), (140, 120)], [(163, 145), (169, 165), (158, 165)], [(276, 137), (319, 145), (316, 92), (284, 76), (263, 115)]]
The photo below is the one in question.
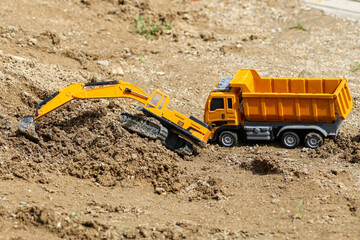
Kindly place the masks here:
[(35, 132), (34, 120), (61, 107), (73, 99), (96, 98), (132, 98), (143, 104), (149, 98), (140, 88), (124, 81), (89, 82), (71, 84), (60, 89), (39, 104), (36, 104), (35, 113), (25, 116), (18, 125), (21, 133), (35, 141), (39, 137)]

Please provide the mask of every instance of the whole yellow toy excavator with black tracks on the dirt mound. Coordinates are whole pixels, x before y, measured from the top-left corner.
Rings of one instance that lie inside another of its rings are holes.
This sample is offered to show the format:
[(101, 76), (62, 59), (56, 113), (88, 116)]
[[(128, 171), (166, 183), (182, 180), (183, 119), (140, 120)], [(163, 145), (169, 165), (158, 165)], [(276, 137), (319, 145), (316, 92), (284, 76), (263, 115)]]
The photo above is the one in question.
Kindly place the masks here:
[(144, 106), (138, 107), (138, 110), (160, 123), (130, 113), (122, 113), (120, 122), (123, 126), (142, 136), (160, 139), (167, 148), (181, 155), (192, 154), (191, 142), (204, 147), (211, 133), (211, 127), (195, 117), (188, 118), (167, 109), (170, 100), (168, 95), (156, 90), (148, 96), (140, 88), (124, 81), (78, 83), (60, 89), (37, 104), (34, 115), (25, 116), (19, 122), (18, 129), (31, 140), (39, 141), (34, 120), (73, 99), (96, 98), (131, 98), (141, 102)]

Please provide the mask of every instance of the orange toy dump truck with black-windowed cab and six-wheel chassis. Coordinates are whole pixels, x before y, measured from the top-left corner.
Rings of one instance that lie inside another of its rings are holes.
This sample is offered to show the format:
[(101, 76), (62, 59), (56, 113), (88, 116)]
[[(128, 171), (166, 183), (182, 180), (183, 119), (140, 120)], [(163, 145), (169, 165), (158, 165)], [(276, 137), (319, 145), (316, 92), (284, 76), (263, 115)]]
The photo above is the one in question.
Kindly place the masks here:
[(204, 120), (212, 127), (210, 141), (226, 147), (242, 138), (279, 139), (286, 148), (303, 140), (317, 148), (337, 135), (352, 107), (345, 78), (262, 78), (243, 69), (215, 85)]

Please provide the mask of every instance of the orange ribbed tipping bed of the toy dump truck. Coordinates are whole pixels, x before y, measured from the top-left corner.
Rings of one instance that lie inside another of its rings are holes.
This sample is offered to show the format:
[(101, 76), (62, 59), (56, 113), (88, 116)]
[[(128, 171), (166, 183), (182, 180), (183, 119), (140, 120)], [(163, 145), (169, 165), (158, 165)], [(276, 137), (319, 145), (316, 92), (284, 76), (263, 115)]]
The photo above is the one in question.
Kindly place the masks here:
[(353, 107), (345, 78), (262, 78), (239, 70), (229, 86), (241, 88), (247, 121), (333, 122)]

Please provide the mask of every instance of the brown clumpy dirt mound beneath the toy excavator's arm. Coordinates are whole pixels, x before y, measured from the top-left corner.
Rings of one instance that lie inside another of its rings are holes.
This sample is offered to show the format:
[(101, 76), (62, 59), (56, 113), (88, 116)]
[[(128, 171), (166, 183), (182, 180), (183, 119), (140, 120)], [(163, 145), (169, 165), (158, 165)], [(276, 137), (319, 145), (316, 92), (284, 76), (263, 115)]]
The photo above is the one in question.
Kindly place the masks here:
[(177, 163), (181, 158), (159, 141), (130, 134), (116, 119), (107, 118), (104, 108), (92, 105), (81, 111), (82, 104), (69, 108), (74, 110), (64, 110), (38, 124), (38, 144), (14, 136), (11, 147), (18, 151), (3, 163), (2, 178), (12, 174), (46, 182), (43, 173), (60, 172), (108, 187), (148, 179), (166, 192), (179, 191), (186, 184)]

